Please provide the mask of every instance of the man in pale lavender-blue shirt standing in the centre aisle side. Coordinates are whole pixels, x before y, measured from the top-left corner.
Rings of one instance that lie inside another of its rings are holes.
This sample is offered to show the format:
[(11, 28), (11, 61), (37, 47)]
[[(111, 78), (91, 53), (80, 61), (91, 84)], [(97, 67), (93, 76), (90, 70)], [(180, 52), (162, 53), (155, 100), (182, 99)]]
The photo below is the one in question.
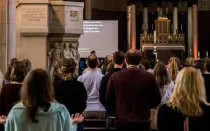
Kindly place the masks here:
[(101, 118), (101, 115), (103, 114), (101, 112), (105, 111), (104, 106), (99, 101), (99, 88), (103, 75), (97, 70), (98, 59), (95, 55), (90, 55), (88, 57), (87, 64), (89, 70), (85, 74), (78, 77), (78, 81), (84, 84), (88, 95), (87, 108), (85, 109), (85, 112), (91, 112), (87, 113), (91, 114), (91, 117)]

